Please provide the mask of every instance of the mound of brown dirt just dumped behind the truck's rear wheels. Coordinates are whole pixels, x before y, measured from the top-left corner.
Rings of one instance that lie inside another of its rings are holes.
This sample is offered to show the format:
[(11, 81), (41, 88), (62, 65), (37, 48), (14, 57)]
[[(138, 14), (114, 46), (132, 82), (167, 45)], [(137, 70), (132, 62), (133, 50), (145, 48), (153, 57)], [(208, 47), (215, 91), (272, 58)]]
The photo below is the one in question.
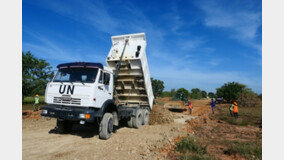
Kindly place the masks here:
[(154, 105), (150, 114), (150, 125), (169, 124), (174, 121), (174, 115), (162, 105)]

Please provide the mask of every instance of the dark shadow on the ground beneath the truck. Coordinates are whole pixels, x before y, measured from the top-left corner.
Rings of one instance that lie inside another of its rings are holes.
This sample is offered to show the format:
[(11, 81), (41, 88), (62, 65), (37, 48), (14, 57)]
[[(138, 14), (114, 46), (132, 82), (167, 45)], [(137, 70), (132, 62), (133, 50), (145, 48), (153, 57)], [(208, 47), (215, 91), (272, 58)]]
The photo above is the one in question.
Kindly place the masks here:
[[(114, 130), (113, 132), (115, 133), (118, 129), (124, 128), (124, 127), (127, 127), (124, 123), (120, 124), (119, 126), (113, 126), (113, 130)], [(48, 133), (49, 134), (62, 134), (62, 135), (70, 134), (70, 135), (75, 135), (75, 136), (79, 136), (82, 138), (93, 138), (99, 135), (99, 126), (98, 125), (83, 126), (83, 125), (75, 124), (72, 127), (72, 130), (69, 132), (59, 133), (57, 130), (57, 127), (54, 127)]]

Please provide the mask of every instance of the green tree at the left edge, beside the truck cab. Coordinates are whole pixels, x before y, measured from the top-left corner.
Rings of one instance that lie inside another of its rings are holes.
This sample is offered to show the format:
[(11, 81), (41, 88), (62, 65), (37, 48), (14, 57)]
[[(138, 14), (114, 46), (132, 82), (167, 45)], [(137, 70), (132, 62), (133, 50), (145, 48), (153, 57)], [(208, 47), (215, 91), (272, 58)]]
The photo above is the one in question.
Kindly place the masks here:
[(30, 51), (22, 52), (22, 98), (43, 95), (46, 84), (53, 77), (52, 67)]

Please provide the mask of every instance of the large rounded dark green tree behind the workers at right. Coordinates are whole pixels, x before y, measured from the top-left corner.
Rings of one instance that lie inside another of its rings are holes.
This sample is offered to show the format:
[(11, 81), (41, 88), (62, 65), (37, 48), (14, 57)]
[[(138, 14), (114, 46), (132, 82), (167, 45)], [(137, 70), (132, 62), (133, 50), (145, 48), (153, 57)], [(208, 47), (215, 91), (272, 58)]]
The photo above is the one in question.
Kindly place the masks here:
[(237, 82), (228, 82), (225, 83), (220, 88), (217, 88), (217, 97), (223, 97), (227, 101), (235, 101), (238, 98), (240, 92), (252, 92), (247, 89), (244, 84), (240, 84)]

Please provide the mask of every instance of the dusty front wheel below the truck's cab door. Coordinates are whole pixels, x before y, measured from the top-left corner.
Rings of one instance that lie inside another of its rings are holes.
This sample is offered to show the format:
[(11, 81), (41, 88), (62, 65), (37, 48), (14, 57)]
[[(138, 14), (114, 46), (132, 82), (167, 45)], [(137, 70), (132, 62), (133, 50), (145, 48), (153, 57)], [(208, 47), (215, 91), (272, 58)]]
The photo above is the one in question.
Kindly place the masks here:
[(109, 139), (113, 131), (113, 115), (105, 113), (100, 123), (99, 137), (100, 139)]

